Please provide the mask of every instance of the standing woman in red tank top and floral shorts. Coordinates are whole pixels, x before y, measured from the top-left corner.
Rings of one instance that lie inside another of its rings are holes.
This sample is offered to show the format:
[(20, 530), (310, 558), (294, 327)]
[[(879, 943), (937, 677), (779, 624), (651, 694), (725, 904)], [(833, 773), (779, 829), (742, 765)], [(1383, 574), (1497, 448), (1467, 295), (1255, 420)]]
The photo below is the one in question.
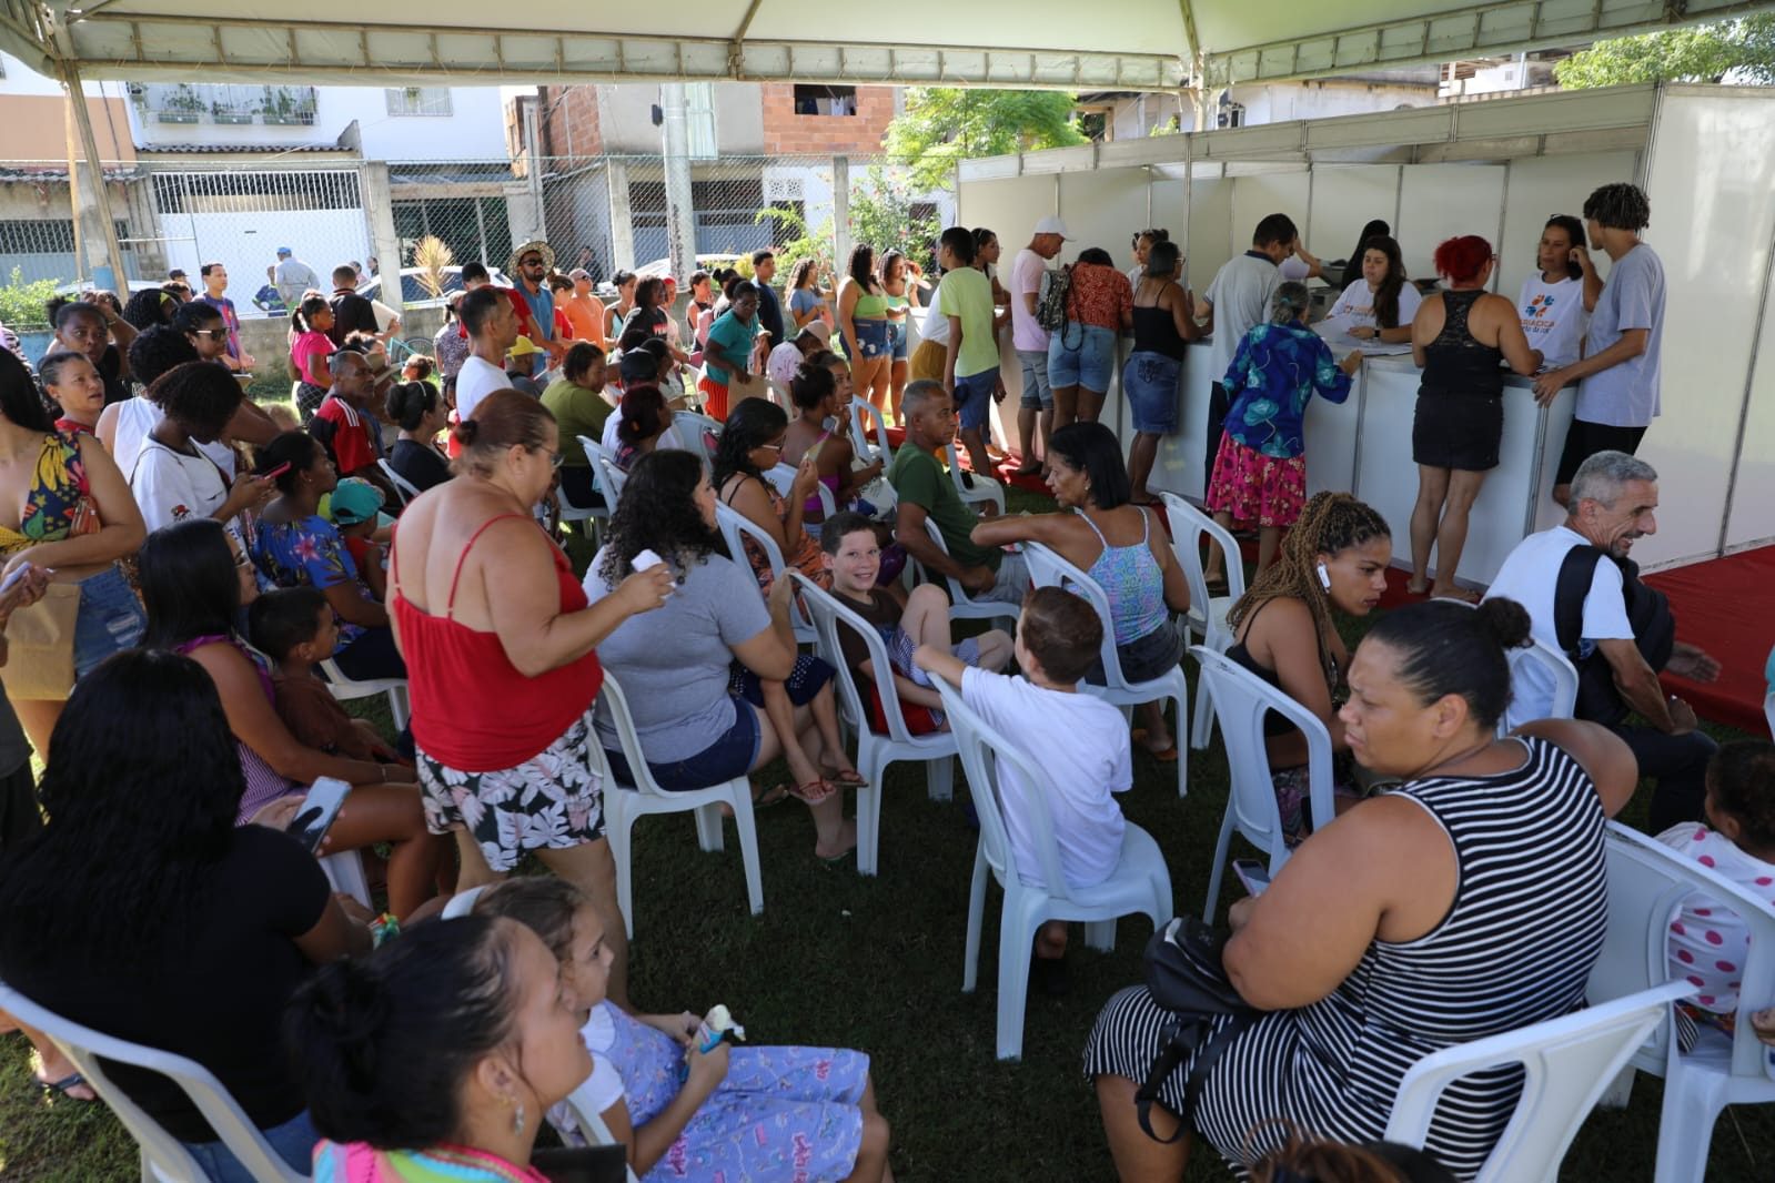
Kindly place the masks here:
[(586, 605), (532, 513), (561, 461), (554, 415), (536, 399), (497, 390), (454, 435), (458, 475), (401, 514), (389, 571), (426, 823), (456, 834), (458, 890), (508, 874), (531, 850), (584, 889), (614, 944), (612, 997), (627, 1002), (616, 862), (588, 752), (604, 681), (593, 647), (660, 607), (671, 575), (637, 573)]

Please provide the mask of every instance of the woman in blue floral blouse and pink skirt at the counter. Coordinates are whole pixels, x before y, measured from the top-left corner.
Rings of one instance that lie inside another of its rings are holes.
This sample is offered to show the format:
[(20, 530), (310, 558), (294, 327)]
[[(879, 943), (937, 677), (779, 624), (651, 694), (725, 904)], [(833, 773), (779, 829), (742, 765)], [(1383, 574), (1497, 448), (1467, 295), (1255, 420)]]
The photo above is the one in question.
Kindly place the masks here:
[[(1319, 333), (1306, 328), (1308, 307), (1305, 284), (1278, 287), (1269, 325), (1246, 333), (1221, 380), (1230, 406), (1207, 504), (1228, 530), (1257, 525), (1258, 571), (1274, 562), (1283, 527), (1294, 525), (1306, 504), (1306, 401), (1319, 394), (1342, 403), (1361, 365), (1361, 351), (1333, 360)], [(1227, 589), (1219, 548), (1209, 550), (1203, 575), (1211, 592)]]

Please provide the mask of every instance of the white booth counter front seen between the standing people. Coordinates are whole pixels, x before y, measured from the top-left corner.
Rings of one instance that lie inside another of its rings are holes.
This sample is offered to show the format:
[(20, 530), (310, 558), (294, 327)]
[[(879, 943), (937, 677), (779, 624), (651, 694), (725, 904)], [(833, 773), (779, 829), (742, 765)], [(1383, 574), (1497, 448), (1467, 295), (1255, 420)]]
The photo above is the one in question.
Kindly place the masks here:
[[(1340, 349), (1333, 353), (1342, 356)], [(1184, 355), (1179, 388), (1179, 431), (1159, 442), (1148, 488), (1180, 493), (1200, 502), (1207, 495), (1202, 458), (1207, 452), (1209, 385), (1221, 374), (1209, 372), (1207, 342), (1193, 342)], [(1418, 401), (1422, 371), (1409, 356), (1363, 358), (1351, 376), (1349, 399), (1328, 403), (1319, 396), (1306, 404), (1306, 491), (1354, 493), (1386, 518), (1393, 529), (1393, 566), (1411, 566), (1411, 507), (1418, 498), (1418, 466), (1411, 461), (1411, 417)], [(1528, 534), (1542, 529), (1553, 505), (1553, 470), (1566, 443), (1576, 392), (1560, 390), (1553, 406), (1535, 406), (1530, 380), (1503, 378), (1503, 442), (1498, 466), (1473, 502), (1461, 578), (1484, 587), (1498, 575), (1505, 555)], [(1108, 411), (1108, 408), (1106, 408)], [(1109, 415), (1106, 413), (1106, 419)], [(1124, 429), (1122, 435), (1129, 435)], [(1431, 557), (1434, 569), (1434, 555)]]

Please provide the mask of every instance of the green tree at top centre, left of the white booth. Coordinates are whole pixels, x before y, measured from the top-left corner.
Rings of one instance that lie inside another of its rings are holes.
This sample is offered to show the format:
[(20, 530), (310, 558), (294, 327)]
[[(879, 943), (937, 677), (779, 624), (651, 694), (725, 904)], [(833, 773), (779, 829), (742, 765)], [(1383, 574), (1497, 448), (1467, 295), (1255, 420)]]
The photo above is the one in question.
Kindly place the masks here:
[(1074, 103), (1058, 90), (912, 87), (882, 145), (912, 167), (916, 188), (948, 188), (958, 160), (1085, 144)]

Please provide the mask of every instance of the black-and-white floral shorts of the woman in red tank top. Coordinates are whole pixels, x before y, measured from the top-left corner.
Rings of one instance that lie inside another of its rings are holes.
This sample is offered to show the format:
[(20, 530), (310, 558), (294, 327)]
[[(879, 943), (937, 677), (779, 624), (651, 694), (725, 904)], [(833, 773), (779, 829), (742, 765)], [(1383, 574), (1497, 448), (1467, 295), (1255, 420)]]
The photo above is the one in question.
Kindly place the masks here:
[(460, 772), (419, 748), (426, 828), (469, 830), (486, 866), (506, 874), (529, 850), (566, 850), (604, 837), (604, 786), (591, 772), (596, 743), (588, 709), (517, 768)]

